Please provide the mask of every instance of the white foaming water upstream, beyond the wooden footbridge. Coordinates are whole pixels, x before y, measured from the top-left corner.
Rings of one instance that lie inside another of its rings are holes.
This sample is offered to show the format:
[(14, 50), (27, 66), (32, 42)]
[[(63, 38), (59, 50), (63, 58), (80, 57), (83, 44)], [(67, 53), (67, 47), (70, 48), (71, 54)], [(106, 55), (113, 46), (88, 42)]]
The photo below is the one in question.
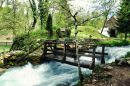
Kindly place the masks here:
[[(102, 47), (97, 47), (96, 51), (102, 52)], [(105, 55), (105, 62), (110, 63), (112, 61), (115, 61), (115, 58), (119, 58), (120, 56), (124, 56), (127, 52), (130, 52), (130, 45), (129, 46), (122, 46), (122, 47), (105, 47), (105, 53), (108, 53), (108, 55)], [(90, 58), (90, 57), (83, 57), (82, 56), (80, 59), (92, 61), (92, 58)], [(99, 58), (96, 58), (95, 61), (97, 63), (100, 63), (101, 56)]]

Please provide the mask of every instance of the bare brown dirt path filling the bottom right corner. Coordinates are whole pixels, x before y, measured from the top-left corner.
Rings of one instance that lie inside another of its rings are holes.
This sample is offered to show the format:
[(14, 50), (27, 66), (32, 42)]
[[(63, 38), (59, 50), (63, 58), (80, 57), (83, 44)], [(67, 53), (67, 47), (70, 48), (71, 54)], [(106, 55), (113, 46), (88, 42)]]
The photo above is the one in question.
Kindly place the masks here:
[(113, 67), (108, 86), (130, 86), (130, 67)]

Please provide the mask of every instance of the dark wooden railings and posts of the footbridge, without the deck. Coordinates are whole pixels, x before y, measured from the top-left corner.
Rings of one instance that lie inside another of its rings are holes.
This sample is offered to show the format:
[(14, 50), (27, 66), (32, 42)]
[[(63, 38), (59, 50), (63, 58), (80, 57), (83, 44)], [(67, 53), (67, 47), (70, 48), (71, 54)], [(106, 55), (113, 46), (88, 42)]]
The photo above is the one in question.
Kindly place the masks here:
[[(47, 40), (44, 42), (44, 59), (46, 59), (46, 55), (53, 54), (54, 57), (58, 55), (62, 55), (63, 58), (61, 62), (66, 62), (66, 56), (73, 57), (76, 60), (76, 47), (75, 42), (64, 42), (64, 41), (57, 41), (57, 40)], [(81, 46), (81, 48), (80, 48)], [(96, 52), (96, 47), (99, 46), (97, 44), (88, 44), (88, 43), (79, 43), (78, 44), (78, 51), (79, 56), (87, 56), (92, 57), (92, 63), (89, 68), (93, 68), (95, 66), (95, 58), (97, 57), (96, 54), (101, 54), (101, 64), (105, 63), (104, 55), (108, 55), (108, 53), (105, 53), (105, 44), (100, 44), (102, 46), (102, 52)], [(85, 48), (84, 48), (85, 47)], [(93, 49), (92, 51), (89, 51), (88, 49)], [(48, 51), (50, 53), (48, 53)], [(92, 55), (83, 55), (83, 53), (92, 53)]]

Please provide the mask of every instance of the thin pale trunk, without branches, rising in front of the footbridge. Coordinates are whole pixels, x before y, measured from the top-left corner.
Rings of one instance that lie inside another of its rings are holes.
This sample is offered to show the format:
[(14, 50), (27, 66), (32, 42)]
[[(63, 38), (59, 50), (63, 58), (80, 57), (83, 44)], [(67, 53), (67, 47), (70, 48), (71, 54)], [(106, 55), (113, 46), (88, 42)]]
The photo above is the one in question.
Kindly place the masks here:
[(79, 54), (78, 54), (78, 31), (77, 31), (77, 19), (74, 17), (75, 19), (75, 42), (76, 42), (76, 58), (78, 60), (78, 71), (79, 71), (79, 78), (80, 78), (80, 82), (81, 82), (81, 85), (82, 85), (82, 82), (83, 82), (83, 75), (82, 75), (82, 71), (81, 71), (81, 68), (80, 68), (80, 60), (79, 60)]

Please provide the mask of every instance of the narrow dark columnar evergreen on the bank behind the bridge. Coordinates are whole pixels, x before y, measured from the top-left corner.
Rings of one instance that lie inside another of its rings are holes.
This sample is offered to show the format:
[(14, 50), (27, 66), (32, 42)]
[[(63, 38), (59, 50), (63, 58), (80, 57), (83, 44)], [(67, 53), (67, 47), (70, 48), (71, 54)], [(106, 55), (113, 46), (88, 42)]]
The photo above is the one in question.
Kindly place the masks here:
[(53, 36), (53, 30), (52, 30), (52, 16), (49, 14), (46, 24), (46, 30), (49, 32), (49, 36)]

